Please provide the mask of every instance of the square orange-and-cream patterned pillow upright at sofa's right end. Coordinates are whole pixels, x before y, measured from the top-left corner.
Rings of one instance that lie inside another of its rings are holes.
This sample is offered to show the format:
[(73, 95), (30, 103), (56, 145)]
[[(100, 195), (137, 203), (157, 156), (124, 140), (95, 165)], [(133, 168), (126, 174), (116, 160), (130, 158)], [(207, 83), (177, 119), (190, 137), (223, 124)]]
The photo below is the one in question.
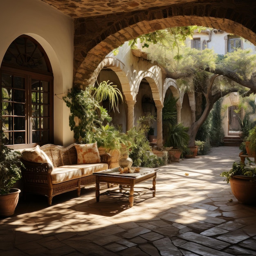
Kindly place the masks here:
[(77, 164), (96, 164), (100, 162), (97, 142), (91, 144), (75, 144)]

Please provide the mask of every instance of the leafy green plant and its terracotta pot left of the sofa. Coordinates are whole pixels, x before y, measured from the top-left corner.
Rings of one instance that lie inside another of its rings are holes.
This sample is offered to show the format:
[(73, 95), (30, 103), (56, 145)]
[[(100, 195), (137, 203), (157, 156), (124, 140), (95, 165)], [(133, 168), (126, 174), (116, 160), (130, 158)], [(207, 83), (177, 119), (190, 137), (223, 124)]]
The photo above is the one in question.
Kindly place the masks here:
[(13, 184), (21, 178), (20, 152), (11, 150), (4, 146), (0, 137), (0, 216), (11, 216), (14, 214), (18, 204), (20, 189), (14, 189)]

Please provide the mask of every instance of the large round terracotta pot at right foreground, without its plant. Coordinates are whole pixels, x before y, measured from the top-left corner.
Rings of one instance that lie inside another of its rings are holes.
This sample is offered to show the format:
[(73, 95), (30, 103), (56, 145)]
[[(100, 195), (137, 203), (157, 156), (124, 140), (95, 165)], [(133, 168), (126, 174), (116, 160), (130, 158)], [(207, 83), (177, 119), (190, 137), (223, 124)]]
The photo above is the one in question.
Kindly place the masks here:
[(241, 204), (256, 204), (256, 182), (251, 177), (235, 175), (231, 178), (232, 193)]

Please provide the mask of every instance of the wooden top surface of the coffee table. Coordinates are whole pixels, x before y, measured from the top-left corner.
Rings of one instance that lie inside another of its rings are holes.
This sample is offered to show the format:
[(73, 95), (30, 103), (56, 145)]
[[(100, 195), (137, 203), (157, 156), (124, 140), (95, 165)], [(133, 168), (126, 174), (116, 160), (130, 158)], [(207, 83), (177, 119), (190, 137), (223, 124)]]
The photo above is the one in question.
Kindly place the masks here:
[[(131, 167), (131, 170), (133, 170), (135, 167)], [(119, 167), (108, 169), (105, 171), (99, 171), (96, 173), (93, 173), (93, 175), (100, 175), (100, 176), (112, 176), (112, 177), (126, 177), (131, 179), (140, 178), (143, 176), (146, 176), (151, 173), (158, 172), (158, 168), (147, 168), (147, 167), (140, 167), (138, 173), (120, 173)]]

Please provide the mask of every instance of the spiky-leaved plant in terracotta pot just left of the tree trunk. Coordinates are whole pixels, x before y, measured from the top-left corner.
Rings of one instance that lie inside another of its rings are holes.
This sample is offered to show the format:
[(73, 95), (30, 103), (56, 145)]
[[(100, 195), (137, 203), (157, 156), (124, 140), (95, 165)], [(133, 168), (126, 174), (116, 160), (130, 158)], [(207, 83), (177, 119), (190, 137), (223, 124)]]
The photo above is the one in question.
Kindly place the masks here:
[(182, 151), (187, 148), (189, 144), (188, 129), (188, 127), (184, 127), (182, 124), (171, 126), (165, 145), (166, 147), (173, 147), (169, 150), (169, 159), (171, 162), (179, 162)]

